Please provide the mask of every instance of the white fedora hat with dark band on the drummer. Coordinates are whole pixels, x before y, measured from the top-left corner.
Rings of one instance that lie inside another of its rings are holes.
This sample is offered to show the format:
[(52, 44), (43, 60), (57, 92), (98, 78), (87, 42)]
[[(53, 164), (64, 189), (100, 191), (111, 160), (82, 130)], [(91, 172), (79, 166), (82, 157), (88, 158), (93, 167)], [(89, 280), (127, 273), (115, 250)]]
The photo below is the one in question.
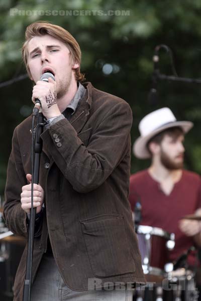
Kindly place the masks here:
[(140, 137), (133, 145), (133, 153), (139, 159), (150, 158), (147, 149), (147, 142), (159, 132), (169, 128), (179, 126), (184, 133), (187, 133), (193, 123), (191, 121), (177, 121), (169, 108), (161, 108), (146, 115), (139, 123)]

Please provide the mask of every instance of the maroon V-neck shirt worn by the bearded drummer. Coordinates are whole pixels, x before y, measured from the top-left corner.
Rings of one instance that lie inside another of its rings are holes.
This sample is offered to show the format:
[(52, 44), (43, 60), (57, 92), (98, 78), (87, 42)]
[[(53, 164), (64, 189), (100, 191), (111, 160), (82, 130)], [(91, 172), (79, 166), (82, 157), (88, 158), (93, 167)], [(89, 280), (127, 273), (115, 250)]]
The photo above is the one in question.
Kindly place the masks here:
[[(192, 237), (179, 230), (178, 221), (201, 207), (201, 180), (197, 174), (184, 170), (170, 195), (165, 195), (160, 183), (147, 170), (131, 175), (129, 201), (133, 211), (138, 200), (142, 205), (141, 225), (159, 227), (175, 234), (175, 247), (169, 258), (171, 261), (194, 244)], [(192, 256), (189, 256), (188, 262), (194, 263)]]

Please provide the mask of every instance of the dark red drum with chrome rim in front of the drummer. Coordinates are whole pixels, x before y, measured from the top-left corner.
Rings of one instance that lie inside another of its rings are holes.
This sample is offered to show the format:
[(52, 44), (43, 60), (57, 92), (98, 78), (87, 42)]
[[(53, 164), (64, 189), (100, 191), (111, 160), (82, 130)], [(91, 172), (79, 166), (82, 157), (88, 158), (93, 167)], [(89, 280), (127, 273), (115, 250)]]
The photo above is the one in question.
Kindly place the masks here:
[(137, 227), (136, 233), (146, 279), (160, 282), (164, 278), (168, 250), (174, 247), (174, 234), (169, 234), (161, 228), (143, 225)]

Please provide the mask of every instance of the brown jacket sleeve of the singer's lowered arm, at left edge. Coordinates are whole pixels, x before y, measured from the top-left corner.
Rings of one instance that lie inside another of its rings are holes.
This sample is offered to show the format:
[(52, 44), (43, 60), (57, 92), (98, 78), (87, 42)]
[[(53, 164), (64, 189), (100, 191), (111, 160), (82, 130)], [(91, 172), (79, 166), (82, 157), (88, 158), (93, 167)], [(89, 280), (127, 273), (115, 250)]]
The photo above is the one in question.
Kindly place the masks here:
[(4, 219), (6, 226), (15, 234), (27, 236), (27, 214), (21, 208), (22, 186), (27, 184), (23, 169), (20, 148), (17, 138), (17, 129), (12, 140), (12, 152), (7, 170), (5, 190)]

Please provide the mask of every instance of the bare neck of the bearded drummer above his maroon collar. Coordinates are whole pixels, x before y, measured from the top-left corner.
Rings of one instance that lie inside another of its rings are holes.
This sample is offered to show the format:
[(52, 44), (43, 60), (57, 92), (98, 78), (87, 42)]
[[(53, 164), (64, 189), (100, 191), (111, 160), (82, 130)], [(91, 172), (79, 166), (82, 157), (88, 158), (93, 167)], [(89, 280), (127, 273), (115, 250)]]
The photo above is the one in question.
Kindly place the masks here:
[(159, 162), (156, 162), (155, 160), (152, 160), (152, 164), (148, 169), (148, 172), (152, 176), (152, 178), (160, 183), (167, 179), (171, 179), (174, 183), (178, 182), (182, 175), (181, 169), (168, 170), (165, 166), (163, 166)]

